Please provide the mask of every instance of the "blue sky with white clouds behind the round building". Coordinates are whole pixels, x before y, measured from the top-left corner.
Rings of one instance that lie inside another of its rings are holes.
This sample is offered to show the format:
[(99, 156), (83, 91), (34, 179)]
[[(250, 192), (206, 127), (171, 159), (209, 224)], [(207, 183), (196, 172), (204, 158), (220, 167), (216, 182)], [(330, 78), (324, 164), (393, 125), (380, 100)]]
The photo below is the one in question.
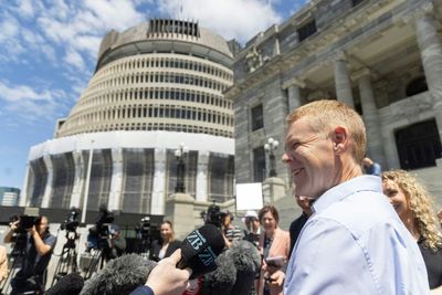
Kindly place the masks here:
[(178, 18), (244, 43), (305, 2), (0, 0), (0, 186), (22, 188), (30, 147), (53, 138), (56, 119), (87, 86), (107, 31)]

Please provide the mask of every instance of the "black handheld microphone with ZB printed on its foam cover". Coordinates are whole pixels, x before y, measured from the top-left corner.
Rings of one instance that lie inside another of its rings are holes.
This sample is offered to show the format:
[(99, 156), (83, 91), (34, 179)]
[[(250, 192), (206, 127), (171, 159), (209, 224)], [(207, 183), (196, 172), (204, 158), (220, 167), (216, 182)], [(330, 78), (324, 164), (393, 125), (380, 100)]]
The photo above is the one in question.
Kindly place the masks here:
[(224, 238), (213, 224), (206, 224), (186, 236), (181, 243), (181, 260), (178, 268), (190, 267), (190, 280), (217, 270), (215, 259), (224, 249)]

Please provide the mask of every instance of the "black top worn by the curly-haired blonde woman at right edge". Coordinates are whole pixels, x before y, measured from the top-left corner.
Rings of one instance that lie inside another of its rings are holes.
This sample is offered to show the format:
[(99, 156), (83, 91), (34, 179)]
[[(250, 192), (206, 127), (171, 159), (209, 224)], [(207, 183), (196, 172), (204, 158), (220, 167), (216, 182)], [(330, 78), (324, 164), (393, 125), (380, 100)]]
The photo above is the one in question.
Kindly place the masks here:
[(434, 252), (431, 247), (425, 246), (424, 242), (425, 240), (421, 238), (418, 245), (425, 262), (430, 288), (435, 288), (442, 285), (442, 249)]

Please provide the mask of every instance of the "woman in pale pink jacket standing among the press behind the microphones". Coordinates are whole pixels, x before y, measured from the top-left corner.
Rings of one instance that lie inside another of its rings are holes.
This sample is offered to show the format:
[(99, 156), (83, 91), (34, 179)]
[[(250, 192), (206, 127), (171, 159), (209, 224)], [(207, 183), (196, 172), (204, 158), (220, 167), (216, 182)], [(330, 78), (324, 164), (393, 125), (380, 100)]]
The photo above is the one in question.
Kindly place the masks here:
[[(264, 229), (259, 244), (263, 262), (256, 285), (257, 295), (282, 295), (290, 235), (277, 226), (280, 214), (275, 207), (264, 206), (257, 215)], [(271, 259), (275, 259), (273, 263), (270, 263)]]

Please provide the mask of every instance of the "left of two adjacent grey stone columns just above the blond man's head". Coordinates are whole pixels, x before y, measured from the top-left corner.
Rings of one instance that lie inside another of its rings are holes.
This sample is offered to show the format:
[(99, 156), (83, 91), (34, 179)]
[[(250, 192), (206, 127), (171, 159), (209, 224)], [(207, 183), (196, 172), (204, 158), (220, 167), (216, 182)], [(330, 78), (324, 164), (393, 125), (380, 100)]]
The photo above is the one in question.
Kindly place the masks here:
[(351, 107), (355, 107), (351, 95), (350, 78), (347, 70), (347, 59), (344, 52), (338, 53), (335, 59), (335, 86), (337, 99)]

